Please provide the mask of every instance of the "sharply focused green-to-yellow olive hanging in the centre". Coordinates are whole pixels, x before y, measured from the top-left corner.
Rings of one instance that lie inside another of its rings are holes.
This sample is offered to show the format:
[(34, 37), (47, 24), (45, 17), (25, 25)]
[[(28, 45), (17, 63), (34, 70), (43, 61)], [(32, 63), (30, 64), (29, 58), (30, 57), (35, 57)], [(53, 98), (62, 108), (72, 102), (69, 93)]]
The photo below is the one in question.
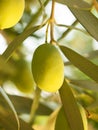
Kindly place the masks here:
[(32, 74), (36, 85), (48, 92), (56, 92), (64, 80), (64, 63), (56, 46), (42, 44), (34, 52)]

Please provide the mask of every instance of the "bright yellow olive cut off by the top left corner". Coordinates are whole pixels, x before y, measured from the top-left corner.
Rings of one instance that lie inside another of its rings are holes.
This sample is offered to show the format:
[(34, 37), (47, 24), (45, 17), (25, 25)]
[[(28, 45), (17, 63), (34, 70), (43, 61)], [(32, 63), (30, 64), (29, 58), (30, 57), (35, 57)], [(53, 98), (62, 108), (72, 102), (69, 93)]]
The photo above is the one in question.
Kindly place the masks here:
[(0, 0), (0, 29), (14, 26), (23, 15), (25, 0)]

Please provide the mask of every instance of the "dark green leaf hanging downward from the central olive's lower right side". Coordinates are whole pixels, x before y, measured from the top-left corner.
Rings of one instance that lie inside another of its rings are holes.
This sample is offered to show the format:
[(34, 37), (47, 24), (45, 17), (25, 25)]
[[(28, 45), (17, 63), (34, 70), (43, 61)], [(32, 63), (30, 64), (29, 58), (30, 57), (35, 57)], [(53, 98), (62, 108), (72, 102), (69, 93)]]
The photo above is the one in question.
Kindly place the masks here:
[(60, 97), (63, 104), (65, 116), (68, 120), (70, 129), (71, 130), (84, 130), (82, 117), (81, 117), (78, 105), (70, 89), (70, 86), (67, 84), (66, 81), (64, 81), (59, 92), (60, 92)]

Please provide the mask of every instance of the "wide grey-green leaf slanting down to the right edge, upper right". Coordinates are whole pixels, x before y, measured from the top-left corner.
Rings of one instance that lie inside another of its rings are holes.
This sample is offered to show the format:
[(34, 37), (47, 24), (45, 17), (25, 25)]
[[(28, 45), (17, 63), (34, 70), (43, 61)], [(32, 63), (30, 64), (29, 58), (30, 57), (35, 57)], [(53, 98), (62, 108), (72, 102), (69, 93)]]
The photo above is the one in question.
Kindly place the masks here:
[(70, 8), (70, 10), (89, 34), (98, 41), (98, 19), (90, 11), (73, 8)]

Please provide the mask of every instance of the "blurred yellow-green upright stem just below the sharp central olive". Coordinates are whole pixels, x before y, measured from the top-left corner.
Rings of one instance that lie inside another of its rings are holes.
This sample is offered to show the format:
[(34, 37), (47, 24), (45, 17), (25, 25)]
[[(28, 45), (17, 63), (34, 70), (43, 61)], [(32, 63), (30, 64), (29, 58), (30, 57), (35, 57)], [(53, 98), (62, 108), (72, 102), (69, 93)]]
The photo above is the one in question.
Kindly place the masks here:
[(32, 106), (31, 106), (31, 112), (30, 112), (30, 120), (29, 120), (30, 124), (33, 123), (34, 116), (35, 116), (37, 108), (39, 106), (40, 93), (41, 93), (41, 90), (38, 87), (36, 87), (36, 90), (35, 90), (35, 93), (34, 93), (34, 100), (33, 100), (33, 103), (32, 103)]

